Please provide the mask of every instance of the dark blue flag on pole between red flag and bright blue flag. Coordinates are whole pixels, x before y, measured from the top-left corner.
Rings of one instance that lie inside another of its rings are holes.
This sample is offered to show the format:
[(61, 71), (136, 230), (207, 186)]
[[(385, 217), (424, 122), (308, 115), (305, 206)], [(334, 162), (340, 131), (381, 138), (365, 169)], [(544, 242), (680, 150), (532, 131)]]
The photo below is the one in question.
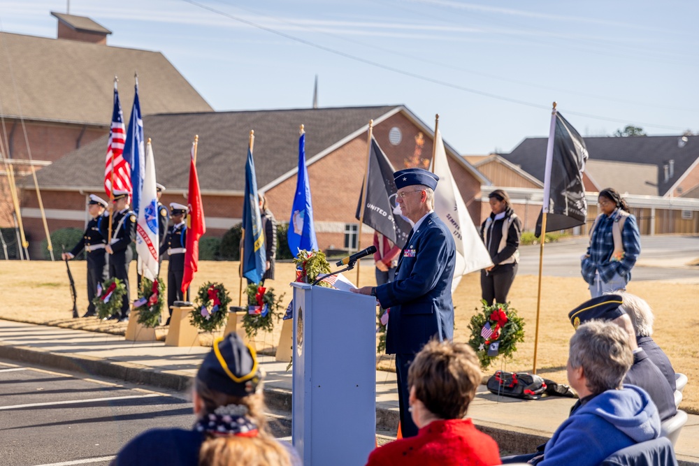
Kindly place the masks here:
[(253, 283), (262, 281), (267, 270), (267, 255), (264, 248), (264, 231), (257, 197), (257, 177), (250, 146), (247, 147), (245, 163), (245, 197), (243, 198), (243, 277)]

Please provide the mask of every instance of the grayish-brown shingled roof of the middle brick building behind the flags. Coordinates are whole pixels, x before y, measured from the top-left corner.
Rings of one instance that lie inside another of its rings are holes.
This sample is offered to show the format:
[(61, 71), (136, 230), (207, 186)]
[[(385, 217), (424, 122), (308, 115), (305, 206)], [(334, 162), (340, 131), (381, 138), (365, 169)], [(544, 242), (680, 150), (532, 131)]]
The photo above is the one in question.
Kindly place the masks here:
[[(145, 99), (141, 102), (143, 103)], [(300, 110), (255, 110), (150, 115), (143, 118), (152, 138), (158, 182), (168, 190), (187, 190), (189, 150), (199, 135), (197, 172), (202, 191), (243, 191), (250, 130), (255, 131), (258, 187), (298, 166), (298, 126), (305, 126), (310, 159), (398, 105)], [(128, 112), (126, 117), (128, 118)], [(99, 189), (104, 177), (107, 138), (100, 138), (38, 170), (46, 188)], [(76, 169), (79, 167), (79, 169)]]

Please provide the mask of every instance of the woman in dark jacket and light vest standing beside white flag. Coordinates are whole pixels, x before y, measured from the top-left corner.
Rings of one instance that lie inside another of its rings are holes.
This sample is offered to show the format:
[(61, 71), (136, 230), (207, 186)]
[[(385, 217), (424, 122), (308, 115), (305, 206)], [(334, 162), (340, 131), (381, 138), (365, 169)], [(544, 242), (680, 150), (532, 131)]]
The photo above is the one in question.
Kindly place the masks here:
[(493, 211), (481, 225), (481, 238), (494, 265), (481, 270), (482, 298), (490, 305), (507, 303), (507, 293), (517, 275), (522, 224), (502, 189), (488, 195)]

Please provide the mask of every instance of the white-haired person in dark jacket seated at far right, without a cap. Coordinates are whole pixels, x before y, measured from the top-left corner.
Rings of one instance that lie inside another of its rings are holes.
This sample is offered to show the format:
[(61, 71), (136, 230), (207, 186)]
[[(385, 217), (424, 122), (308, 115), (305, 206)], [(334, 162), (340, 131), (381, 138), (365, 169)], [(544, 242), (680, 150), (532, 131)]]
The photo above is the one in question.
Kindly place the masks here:
[(655, 317), (653, 310), (646, 300), (638, 296), (626, 293), (626, 291), (617, 293), (621, 296), (621, 308), (626, 311), (626, 314), (631, 319), (633, 330), (636, 334), (636, 343), (638, 347), (646, 352), (648, 358), (658, 366), (660, 372), (663, 372), (665, 379), (668, 379), (672, 391), (677, 390), (677, 380), (675, 379), (675, 369), (672, 368), (672, 363), (665, 351), (658, 347), (658, 344), (653, 341), (653, 322)]

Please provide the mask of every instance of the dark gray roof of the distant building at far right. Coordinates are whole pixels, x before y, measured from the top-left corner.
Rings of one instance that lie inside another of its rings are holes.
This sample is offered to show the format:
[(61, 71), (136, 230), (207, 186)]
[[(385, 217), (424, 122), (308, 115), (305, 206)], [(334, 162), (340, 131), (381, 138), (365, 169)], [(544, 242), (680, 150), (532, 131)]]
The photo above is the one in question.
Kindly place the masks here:
[[(658, 167), (657, 196), (664, 196), (691, 164), (699, 158), (699, 136), (687, 136), (680, 147), (682, 136), (635, 136), (628, 138), (584, 138), (590, 159), (649, 163)], [(539, 180), (544, 179), (547, 138), (526, 138), (510, 154), (500, 154), (521, 166)], [(665, 181), (663, 166), (674, 161), (674, 173)], [(624, 176), (624, 173), (619, 173)]]

